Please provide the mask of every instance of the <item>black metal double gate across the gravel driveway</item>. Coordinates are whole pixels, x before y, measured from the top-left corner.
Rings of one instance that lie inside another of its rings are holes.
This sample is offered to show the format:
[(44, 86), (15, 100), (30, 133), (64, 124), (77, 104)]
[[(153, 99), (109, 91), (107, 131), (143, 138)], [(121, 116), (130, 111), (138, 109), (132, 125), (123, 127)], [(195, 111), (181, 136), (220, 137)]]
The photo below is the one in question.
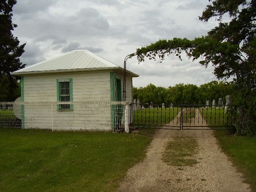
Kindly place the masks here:
[(132, 126), (159, 129), (230, 129), (236, 121), (232, 105), (159, 105), (131, 103)]

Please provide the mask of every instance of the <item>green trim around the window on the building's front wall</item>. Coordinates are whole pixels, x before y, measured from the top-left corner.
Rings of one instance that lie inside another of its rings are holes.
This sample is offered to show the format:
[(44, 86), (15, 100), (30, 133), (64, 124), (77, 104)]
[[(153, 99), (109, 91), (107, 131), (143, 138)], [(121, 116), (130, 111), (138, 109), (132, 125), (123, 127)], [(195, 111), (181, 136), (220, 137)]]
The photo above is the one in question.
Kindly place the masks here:
[[(57, 101), (60, 100), (60, 83), (61, 82), (69, 82), (69, 101), (73, 101), (73, 78), (61, 78), (56, 80), (56, 87), (57, 87)], [(73, 111), (74, 105), (70, 104), (68, 109), (62, 109), (61, 104), (57, 104), (57, 111)]]

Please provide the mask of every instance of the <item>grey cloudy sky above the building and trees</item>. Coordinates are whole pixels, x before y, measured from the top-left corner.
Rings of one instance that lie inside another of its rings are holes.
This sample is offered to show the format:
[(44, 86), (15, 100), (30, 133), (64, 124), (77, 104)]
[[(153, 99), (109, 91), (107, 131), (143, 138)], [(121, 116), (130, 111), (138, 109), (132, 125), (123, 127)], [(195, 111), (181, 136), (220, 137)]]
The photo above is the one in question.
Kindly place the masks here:
[[(87, 49), (123, 67), (126, 55), (159, 39), (202, 36), (217, 24), (200, 22), (208, 0), (18, 0), (13, 8), (13, 34), (26, 42), (21, 57), (27, 66), (56, 55)], [(138, 65), (127, 60), (127, 69), (140, 75), (135, 87), (153, 83), (200, 84), (216, 80), (207, 69), (186, 57), (148, 59)]]

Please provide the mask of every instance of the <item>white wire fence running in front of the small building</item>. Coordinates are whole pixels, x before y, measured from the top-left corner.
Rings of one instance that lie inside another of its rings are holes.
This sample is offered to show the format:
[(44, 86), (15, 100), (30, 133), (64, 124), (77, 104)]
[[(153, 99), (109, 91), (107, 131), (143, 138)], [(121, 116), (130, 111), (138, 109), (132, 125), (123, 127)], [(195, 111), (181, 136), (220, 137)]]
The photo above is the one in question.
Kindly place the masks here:
[(126, 102), (0, 102), (0, 127), (129, 132)]

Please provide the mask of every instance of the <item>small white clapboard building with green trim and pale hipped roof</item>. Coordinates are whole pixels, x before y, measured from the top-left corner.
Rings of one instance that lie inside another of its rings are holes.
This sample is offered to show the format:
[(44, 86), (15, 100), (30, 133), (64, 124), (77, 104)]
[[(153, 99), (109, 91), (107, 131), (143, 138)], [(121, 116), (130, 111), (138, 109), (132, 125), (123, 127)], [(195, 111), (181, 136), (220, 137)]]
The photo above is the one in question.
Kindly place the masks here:
[[(106, 105), (122, 101), (123, 68), (114, 63), (88, 50), (76, 50), (17, 70), (12, 75), (21, 77), (23, 128), (115, 129), (115, 119), (111, 117), (116, 115), (112, 109), (114, 104)], [(128, 102), (132, 102), (133, 77), (138, 75), (126, 71), (125, 100)]]

